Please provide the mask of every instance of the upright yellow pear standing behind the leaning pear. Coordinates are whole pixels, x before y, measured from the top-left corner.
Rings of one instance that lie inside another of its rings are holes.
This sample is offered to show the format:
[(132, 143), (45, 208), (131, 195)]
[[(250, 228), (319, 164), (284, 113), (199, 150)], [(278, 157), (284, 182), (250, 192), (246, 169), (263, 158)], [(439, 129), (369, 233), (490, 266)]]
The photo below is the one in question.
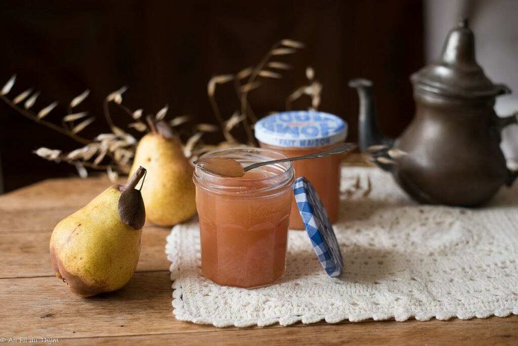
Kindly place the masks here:
[(130, 170), (148, 167), (142, 198), (146, 218), (160, 226), (173, 226), (196, 213), (194, 167), (183, 154), (180, 141), (164, 121), (147, 118), (151, 132), (140, 139)]

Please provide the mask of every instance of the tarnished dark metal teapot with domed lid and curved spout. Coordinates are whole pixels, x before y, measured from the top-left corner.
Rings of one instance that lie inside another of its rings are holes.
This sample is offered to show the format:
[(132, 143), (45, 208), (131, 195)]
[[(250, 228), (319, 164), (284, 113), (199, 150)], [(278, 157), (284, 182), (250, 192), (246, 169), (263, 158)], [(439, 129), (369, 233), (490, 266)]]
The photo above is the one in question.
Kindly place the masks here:
[[(370, 148), (376, 163), (420, 203), (477, 206), (501, 185), (511, 185), (517, 174), (506, 166), (500, 132), (517, 122), (518, 112), (496, 115), (496, 96), (511, 91), (493, 84), (477, 64), (467, 20), (450, 31), (439, 57), (410, 80), (416, 114), (398, 139), (379, 130), (372, 83), (349, 82), (359, 96), (360, 149)], [(385, 160), (379, 158), (383, 155)]]

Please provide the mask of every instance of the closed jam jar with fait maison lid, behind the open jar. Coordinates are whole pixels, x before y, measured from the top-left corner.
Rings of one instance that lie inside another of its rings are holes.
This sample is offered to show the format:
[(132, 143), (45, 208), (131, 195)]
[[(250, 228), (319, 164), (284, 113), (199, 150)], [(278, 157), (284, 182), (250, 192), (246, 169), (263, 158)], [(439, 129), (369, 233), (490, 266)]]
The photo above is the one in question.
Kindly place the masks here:
[[(339, 117), (316, 111), (290, 111), (271, 114), (255, 124), (255, 138), (261, 148), (287, 157), (328, 150), (346, 140), (347, 123)], [(340, 162), (342, 155), (294, 161), (296, 178), (306, 177), (314, 186), (329, 220), (338, 220), (340, 203)], [(292, 209), (297, 210), (295, 197)], [(290, 228), (305, 229), (298, 212), (290, 218)]]

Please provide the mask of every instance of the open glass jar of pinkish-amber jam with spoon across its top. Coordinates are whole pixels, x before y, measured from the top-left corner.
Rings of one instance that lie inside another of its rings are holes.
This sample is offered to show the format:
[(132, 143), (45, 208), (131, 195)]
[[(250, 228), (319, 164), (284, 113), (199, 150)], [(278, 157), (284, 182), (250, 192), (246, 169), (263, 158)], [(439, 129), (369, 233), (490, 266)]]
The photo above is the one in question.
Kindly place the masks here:
[[(286, 158), (260, 148), (234, 148), (204, 154), (228, 157), (244, 167)], [(202, 273), (220, 285), (258, 287), (273, 283), (286, 266), (292, 185), (291, 162), (258, 167), (231, 178), (196, 167), (196, 207)]]

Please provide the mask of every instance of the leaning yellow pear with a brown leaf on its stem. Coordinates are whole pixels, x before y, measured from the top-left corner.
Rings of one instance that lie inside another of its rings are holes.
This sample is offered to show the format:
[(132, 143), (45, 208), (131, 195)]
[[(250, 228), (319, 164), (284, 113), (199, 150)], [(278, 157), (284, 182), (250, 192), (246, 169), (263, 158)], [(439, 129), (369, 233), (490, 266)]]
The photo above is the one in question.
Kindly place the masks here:
[(130, 281), (140, 256), (146, 211), (139, 167), (124, 185), (112, 185), (63, 219), (50, 238), (55, 275), (81, 297), (121, 289)]

